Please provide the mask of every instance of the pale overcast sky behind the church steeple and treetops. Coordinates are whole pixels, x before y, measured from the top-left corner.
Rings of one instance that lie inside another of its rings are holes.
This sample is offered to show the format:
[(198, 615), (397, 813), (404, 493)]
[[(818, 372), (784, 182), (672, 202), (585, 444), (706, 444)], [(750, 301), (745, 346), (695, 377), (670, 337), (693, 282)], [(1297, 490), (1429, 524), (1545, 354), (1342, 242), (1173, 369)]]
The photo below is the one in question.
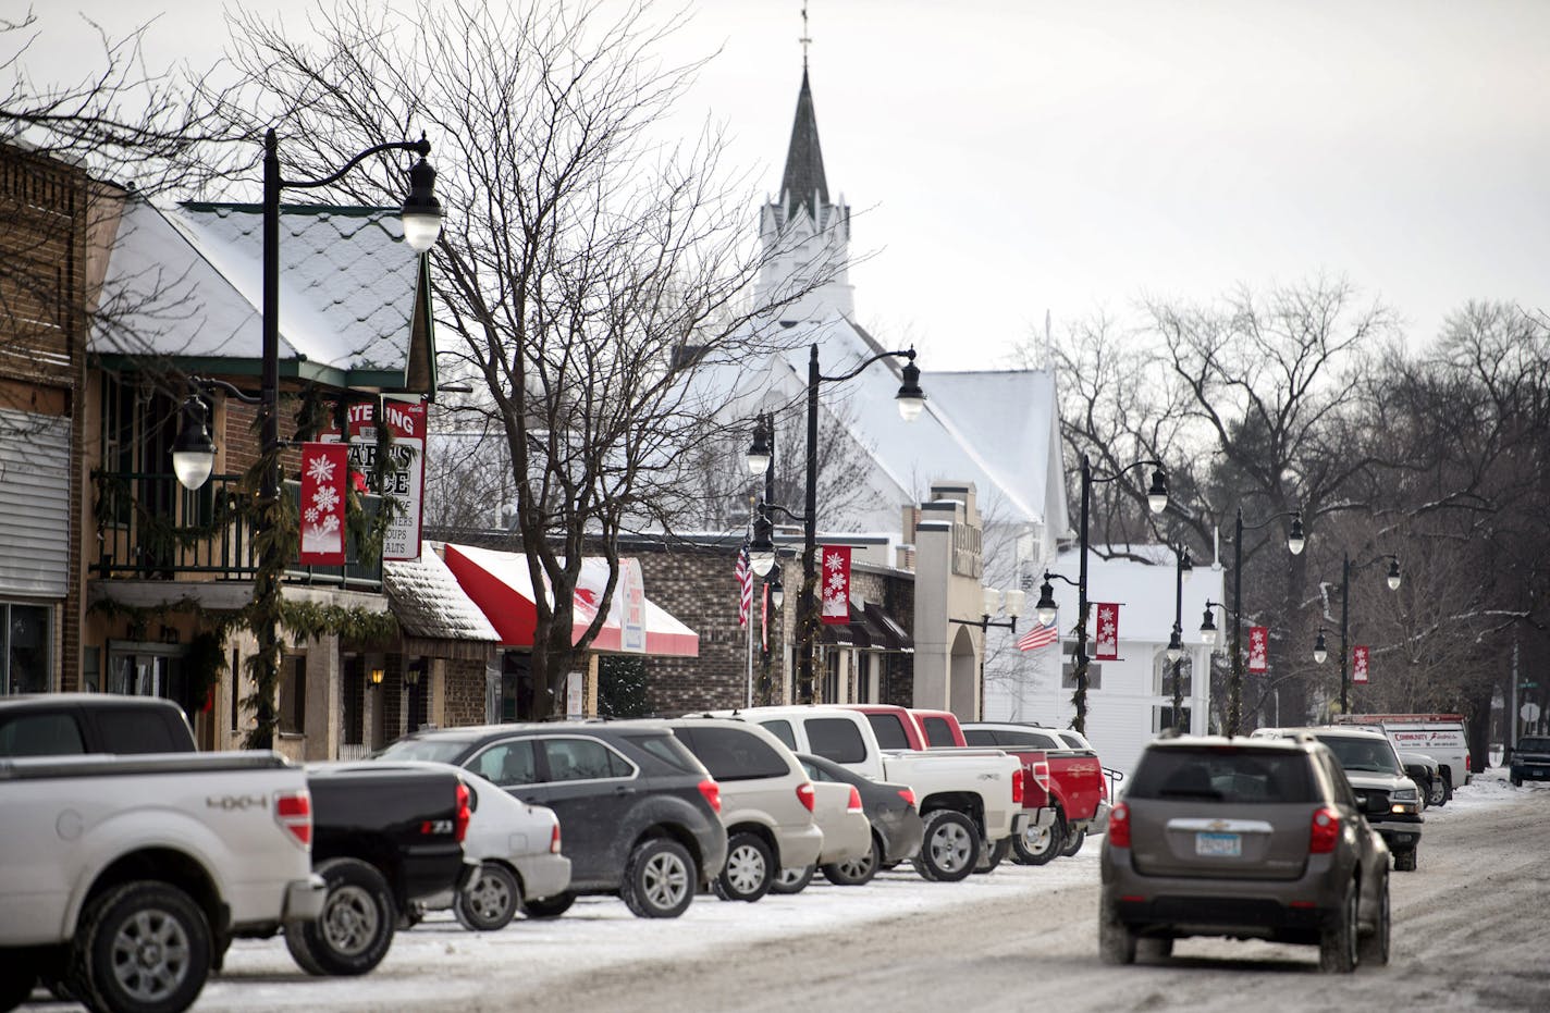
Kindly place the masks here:
[[(90, 53), (67, 9), (115, 34), (166, 11), (153, 56), (222, 45), (205, 0), (36, 6), (43, 77)], [(245, 6), (299, 26), (312, 5)], [(1471, 297), (1550, 308), (1547, 2), (811, 0), (808, 25), (829, 191), (876, 252), (857, 314), (955, 369), (1000, 364), (1046, 310), (1060, 330), (1319, 271), (1417, 345)], [(727, 121), (761, 191), (800, 36), (801, 0), (702, 0), (673, 43), (721, 48), (685, 121)]]

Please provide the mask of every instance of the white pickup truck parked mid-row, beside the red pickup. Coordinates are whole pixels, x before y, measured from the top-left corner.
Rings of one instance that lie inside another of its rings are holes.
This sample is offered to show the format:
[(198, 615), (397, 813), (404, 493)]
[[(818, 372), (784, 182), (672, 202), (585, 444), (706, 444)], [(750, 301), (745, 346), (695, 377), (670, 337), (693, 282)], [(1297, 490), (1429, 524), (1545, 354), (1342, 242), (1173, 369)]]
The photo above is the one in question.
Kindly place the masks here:
[(1028, 821), (1023, 765), (1001, 750), (884, 750), (865, 714), (839, 706), (755, 706), (719, 716), (763, 725), (794, 753), (910, 785), (925, 819), (914, 867), (927, 880), (955, 883), (994, 869)]

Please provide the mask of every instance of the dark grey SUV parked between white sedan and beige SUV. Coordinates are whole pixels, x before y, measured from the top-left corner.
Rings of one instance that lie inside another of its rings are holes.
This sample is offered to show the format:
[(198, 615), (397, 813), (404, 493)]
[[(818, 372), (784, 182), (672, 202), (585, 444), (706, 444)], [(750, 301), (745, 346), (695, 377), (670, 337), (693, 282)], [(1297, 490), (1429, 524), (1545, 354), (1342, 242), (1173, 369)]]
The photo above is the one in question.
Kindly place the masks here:
[(555, 722), (417, 731), (378, 754), (440, 761), (560, 818), (570, 888), (524, 905), (556, 917), (577, 894), (618, 894), (642, 919), (676, 919), (721, 872), (721, 788), (662, 722)]

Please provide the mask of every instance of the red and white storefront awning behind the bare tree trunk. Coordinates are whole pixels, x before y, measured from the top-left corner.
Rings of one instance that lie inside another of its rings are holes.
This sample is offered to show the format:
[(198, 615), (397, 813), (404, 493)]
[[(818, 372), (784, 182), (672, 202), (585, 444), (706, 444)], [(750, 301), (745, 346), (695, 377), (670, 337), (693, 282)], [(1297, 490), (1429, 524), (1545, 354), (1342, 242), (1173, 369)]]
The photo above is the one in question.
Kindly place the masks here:
[[(527, 556), (448, 544), (445, 559), (457, 582), (488, 616), (501, 635), (501, 643), (508, 647), (532, 647), (538, 606), (533, 604)], [(639, 562), (620, 559), (620, 581), (614, 589), (608, 620), (592, 641), (591, 651), (698, 658), (699, 635), (646, 599)], [(597, 601), (606, 585), (608, 561), (601, 556), (583, 559), (572, 606), (575, 609), (572, 643), (581, 638), (597, 615)]]

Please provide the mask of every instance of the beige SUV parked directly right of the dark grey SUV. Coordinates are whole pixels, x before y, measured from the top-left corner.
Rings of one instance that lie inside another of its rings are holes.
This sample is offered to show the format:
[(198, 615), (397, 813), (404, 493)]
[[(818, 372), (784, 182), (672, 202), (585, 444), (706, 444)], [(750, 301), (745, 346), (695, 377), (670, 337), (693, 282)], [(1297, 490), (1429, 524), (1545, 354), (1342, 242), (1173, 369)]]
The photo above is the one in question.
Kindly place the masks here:
[(721, 785), (727, 864), (713, 886), (718, 897), (760, 900), (781, 869), (818, 861), (817, 793), (775, 736), (735, 719), (680, 717), (668, 725)]

